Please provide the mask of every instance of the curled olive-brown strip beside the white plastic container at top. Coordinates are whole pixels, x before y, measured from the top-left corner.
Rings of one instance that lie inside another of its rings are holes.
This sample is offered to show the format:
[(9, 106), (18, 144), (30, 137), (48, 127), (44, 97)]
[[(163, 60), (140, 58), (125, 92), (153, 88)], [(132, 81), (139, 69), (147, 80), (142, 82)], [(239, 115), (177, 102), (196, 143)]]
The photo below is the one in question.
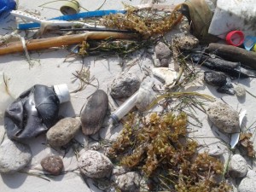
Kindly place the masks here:
[(189, 20), (190, 33), (198, 38), (201, 44), (218, 41), (219, 38), (208, 33), (213, 11), (205, 0), (187, 0), (182, 4), (181, 12)]

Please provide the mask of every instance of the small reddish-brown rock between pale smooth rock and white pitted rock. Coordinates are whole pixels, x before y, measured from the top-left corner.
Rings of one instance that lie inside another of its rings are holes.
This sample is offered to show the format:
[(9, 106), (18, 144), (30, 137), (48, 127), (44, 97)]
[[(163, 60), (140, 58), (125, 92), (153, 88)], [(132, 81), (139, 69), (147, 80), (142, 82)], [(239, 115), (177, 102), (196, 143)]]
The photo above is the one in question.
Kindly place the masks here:
[(61, 160), (61, 157), (52, 155), (41, 160), (41, 166), (46, 172), (53, 175), (60, 175), (63, 169), (63, 161)]

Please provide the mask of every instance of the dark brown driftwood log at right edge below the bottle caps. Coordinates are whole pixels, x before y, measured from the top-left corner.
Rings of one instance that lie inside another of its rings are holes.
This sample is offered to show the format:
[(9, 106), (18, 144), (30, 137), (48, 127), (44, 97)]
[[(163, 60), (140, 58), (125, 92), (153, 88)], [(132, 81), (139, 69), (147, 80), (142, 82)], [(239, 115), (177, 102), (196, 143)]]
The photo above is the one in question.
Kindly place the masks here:
[(253, 51), (226, 44), (209, 44), (205, 51), (214, 53), (225, 60), (241, 62), (244, 66), (256, 69), (256, 53)]

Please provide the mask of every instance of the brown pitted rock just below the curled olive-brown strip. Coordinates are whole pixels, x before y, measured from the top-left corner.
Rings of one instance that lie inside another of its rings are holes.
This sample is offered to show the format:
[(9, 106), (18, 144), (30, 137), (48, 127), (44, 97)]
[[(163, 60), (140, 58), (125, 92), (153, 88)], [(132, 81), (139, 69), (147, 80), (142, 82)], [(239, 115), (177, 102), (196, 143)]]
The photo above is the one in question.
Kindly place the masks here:
[(172, 37), (172, 44), (178, 49), (191, 50), (197, 47), (199, 40), (193, 35), (178, 33)]

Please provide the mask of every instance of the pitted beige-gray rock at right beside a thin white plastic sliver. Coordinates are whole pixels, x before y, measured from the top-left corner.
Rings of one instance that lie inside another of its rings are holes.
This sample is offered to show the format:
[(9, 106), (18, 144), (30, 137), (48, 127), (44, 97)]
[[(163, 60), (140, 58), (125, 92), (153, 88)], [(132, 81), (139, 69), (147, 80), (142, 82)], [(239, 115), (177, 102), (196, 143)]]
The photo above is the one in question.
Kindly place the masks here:
[(209, 119), (220, 131), (236, 133), (240, 131), (239, 113), (224, 102), (213, 102), (208, 108)]

